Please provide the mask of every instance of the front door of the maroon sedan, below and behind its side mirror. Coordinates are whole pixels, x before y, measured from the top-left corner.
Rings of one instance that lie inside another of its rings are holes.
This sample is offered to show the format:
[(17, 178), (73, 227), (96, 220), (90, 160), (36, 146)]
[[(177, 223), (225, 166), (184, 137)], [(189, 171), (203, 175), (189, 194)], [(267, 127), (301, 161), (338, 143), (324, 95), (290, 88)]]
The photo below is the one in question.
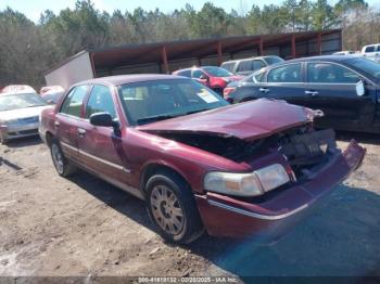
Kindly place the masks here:
[(92, 114), (104, 112), (119, 120), (110, 88), (93, 85), (86, 102), (84, 119), (78, 125), (79, 152), (88, 169), (110, 182), (123, 183), (127, 170), (123, 165), (122, 134), (112, 127), (90, 124)]

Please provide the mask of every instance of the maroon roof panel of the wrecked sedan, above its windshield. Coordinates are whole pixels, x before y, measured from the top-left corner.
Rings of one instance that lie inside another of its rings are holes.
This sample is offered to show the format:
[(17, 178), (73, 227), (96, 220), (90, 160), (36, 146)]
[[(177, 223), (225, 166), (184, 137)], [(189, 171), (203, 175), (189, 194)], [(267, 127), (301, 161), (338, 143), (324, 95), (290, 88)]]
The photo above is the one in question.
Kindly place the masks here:
[(143, 82), (143, 81), (155, 81), (155, 80), (176, 80), (176, 79), (188, 79), (181, 76), (165, 75), (165, 74), (134, 74), (134, 75), (118, 75), (107, 76), (86, 81), (80, 81), (74, 86), (86, 85), (86, 83), (106, 83), (119, 86), (130, 82)]

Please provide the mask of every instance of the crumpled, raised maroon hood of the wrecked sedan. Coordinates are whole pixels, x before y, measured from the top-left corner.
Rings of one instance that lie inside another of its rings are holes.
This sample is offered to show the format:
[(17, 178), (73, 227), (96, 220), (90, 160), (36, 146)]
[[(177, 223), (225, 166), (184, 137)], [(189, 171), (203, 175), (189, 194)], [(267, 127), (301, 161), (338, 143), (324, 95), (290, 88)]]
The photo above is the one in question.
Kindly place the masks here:
[(137, 129), (151, 133), (198, 132), (252, 140), (304, 125), (313, 118), (314, 113), (309, 108), (261, 99), (139, 126)]

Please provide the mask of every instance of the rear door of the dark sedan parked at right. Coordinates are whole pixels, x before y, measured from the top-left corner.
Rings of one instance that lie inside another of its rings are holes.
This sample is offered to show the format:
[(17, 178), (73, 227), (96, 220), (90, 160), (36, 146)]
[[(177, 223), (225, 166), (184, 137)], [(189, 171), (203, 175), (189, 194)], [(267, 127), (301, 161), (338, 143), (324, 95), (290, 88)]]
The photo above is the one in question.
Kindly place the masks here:
[(289, 63), (269, 68), (263, 82), (256, 85), (261, 98), (284, 100), (292, 104), (306, 105), (302, 63)]

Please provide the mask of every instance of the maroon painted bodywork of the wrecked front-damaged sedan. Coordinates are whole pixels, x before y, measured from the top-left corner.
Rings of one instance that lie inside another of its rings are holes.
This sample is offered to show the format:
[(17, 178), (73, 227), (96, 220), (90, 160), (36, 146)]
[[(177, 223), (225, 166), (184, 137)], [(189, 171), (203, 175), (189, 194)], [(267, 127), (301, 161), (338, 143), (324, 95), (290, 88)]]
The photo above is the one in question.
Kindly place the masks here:
[[(275, 237), (282, 235), (290, 227), (302, 219), (308, 211), (307, 209), (316, 204), (322, 195), (330, 192), (335, 184), (342, 181), (352, 170), (356, 169), (365, 155), (363, 147), (355, 142), (351, 142), (343, 155), (338, 154), (334, 163), (330, 164), (328, 168), (321, 169), (315, 179), (303, 184), (295, 184), (293, 188), (281, 191), (274, 197), (261, 203), (241, 202), (237, 198), (206, 193), (203, 190), (203, 179), (205, 173), (212, 170), (250, 172), (273, 163), (280, 163), (288, 170), (290, 166), (278, 152), (270, 149), (264, 151), (255, 158), (252, 157), (248, 158), (246, 162), (236, 163), (216, 154), (149, 132), (207, 132), (252, 140), (303, 125), (313, 118), (313, 113), (311, 109), (290, 105), (286, 102), (258, 100), (147, 126), (129, 127), (127, 125), (115, 86), (131, 81), (179, 78), (165, 75), (137, 75), (115, 76), (88, 81), (87, 83), (97, 82), (109, 86), (121, 118), (122, 130), (119, 135), (113, 133), (112, 129), (91, 126), (84, 118), (75, 119), (58, 114), (60, 106), (56, 106), (54, 111), (46, 109), (42, 113), (41, 131), (45, 134), (51, 133), (73, 147), (78, 147), (90, 155), (106, 159), (130, 170), (127, 173), (111, 170), (110, 168), (106, 169), (104, 165), (102, 167), (97, 165), (97, 162), (93, 162), (93, 159), (78, 155), (75, 151), (65, 150), (65, 154), (69, 158), (81, 164), (90, 171), (112, 177), (124, 184), (137, 189), (140, 188), (141, 175), (149, 165), (159, 164), (170, 167), (181, 175), (194, 191), (204, 225), (210, 234), (216, 236), (240, 237), (252, 234), (263, 235), (264, 233), (269, 233)], [(84, 116), (84, 112), (81, 115)], [(59, 128), (54, 127), (55, 121), (60, 122)], [(77, 131), (79, 127), (86, 129), (87, 139), (81, 140), (78, 137)], [(265, 216), (280, 216), (303, 206), (307, 208), (280, 220), (267, 220), (248, 217), (216, 207), (215, 204), (213, 205), (213, 202), (232, 206), (246, 212)]]

